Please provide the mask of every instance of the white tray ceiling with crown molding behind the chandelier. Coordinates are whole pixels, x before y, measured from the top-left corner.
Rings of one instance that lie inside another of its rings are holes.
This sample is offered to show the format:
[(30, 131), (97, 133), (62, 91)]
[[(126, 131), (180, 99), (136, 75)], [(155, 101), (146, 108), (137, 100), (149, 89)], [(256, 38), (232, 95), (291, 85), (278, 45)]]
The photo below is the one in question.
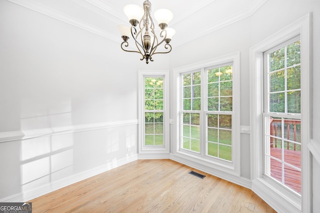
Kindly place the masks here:
[[(144, 0), (8, 0), (82, 29), (121, 42), (118, 24), (128, 24), (126, 4), (142, 7)], [(176, 30), (171, 45), (178, 46), (201, 35), (252, 15), (266, 0), (150, 0), (173, 12), (169, 26)], [(156, 23), (155, 23), (156, 24)]]

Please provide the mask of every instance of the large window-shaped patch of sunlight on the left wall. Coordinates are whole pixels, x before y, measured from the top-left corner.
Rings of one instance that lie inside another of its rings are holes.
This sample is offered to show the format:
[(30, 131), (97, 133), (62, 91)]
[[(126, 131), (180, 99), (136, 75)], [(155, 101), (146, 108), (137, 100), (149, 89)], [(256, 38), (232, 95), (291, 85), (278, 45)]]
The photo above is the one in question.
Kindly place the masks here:
[(53, 130), (70, 126), (71, 101), (21, 102), (21, 191), (28, 191), (73, 173), (73, 133)]

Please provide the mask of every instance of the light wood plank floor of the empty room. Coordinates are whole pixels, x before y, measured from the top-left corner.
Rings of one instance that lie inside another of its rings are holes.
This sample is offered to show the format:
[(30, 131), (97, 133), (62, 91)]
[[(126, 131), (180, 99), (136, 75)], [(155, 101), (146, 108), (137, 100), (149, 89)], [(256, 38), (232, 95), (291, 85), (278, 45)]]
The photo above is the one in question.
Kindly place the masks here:
[(170, 159), (136, 160), (30, 202), (33, 213), (275, 212), (250, 189)]

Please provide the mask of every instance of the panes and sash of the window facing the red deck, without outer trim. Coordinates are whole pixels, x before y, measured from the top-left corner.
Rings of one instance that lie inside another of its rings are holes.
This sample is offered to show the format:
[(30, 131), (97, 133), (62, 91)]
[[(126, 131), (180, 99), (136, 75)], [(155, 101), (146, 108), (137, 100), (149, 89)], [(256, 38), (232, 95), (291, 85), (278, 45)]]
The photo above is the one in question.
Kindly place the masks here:
[(301, 193), (300, 40), (264, 52), (264, 174)]

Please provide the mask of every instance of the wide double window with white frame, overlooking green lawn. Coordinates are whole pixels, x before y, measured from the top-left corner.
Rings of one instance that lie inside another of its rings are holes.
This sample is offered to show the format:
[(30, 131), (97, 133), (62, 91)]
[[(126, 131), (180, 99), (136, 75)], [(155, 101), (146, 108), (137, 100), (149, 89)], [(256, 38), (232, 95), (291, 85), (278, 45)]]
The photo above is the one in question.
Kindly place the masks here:
[[(175, 69), (177, 155), (239, 173), (238, 53)], [(200, 160), (200, 161), (199, 161)]]

